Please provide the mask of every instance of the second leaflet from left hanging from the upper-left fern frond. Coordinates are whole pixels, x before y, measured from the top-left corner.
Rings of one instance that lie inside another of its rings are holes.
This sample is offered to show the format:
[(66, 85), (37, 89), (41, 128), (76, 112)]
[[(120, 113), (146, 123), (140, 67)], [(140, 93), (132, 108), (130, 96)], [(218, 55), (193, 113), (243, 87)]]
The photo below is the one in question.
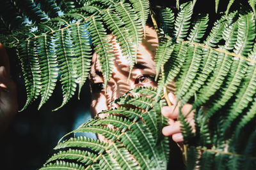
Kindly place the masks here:
[(36, 39), (38, 42), (38, 59), (42, 73), (41, 101), (38, 110), (52, 95), (58, 77), (57, 58), (51, 45), (51, 36), (45, 34)]

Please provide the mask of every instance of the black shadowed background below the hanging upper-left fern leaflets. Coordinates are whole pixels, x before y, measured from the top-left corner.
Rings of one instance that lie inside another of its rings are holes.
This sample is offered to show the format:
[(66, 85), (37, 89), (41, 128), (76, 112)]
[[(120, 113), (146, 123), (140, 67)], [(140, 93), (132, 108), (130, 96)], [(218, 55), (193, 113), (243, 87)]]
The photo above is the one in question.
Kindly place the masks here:
[[(17, 58), (10, 50), (8, 54), (21, 110), (27, 99), (24, 78), (20, 74)], [(77, 99), (77, 92), (63, 108), (52, 111), (62, 103), (61, 84), (58, 81), (52, 97), (39, 111), (40, 97), (26, 110), (17, 113), (8, 130), (0, 136), (0, 169), (39, 169), (55, 153), (53, 148), (63, 135), (90, 120), (88, 82), (81, 90), (80, 100)]]

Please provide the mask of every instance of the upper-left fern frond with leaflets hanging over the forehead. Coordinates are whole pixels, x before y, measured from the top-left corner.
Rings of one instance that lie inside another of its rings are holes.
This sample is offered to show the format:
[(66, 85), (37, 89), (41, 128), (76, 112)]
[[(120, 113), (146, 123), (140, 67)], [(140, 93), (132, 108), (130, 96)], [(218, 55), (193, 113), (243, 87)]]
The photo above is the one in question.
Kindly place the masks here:
[[(13, 15), (24, 15), (32, 22), (22, 25), (26, 19), (3, 18), (6, 29), (0, 36), (5, 46), (17, 46), (28, 94), (24, 109), (38, 96), (42, 98), (40, 109), (52, 95), (59, 74), (63, 102), (55, 110), (74, 96), (77, 84), (80, 94), (90, 72), (93, 50), (99, 55), (106, 88), (114, 57), (113, 38), (107, 31), (116, 36), (132, 69), (149, 13), (148, 1), (13, 0), (6, 4), (17, 11)], [(20, 24), (19, 31), (13, 24)], [(8, 29), (12, 34), (6, 32)]]

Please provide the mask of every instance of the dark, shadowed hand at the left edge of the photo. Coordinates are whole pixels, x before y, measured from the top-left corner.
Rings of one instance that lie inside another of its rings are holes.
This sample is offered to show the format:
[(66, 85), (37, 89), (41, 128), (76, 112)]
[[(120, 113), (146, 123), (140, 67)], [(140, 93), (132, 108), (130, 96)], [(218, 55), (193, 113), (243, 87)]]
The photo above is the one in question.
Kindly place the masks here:
[(6, 131), (17, 111), (17, 89), (10, 78), (9, 57), (0, 43), (0, 134)]

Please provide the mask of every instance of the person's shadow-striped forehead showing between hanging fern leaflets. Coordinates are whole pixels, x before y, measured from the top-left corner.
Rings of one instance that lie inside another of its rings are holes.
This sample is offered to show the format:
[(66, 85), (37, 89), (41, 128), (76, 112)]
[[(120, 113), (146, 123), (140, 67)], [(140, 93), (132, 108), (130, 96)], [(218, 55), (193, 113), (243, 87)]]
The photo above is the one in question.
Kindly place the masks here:
[[(120, 45), (117, 43), (114, 36), (110, 35), (111, 41), (113, 43), (113, 50), (115, 53), (115, 59), (113, 60), (113, 72), (119, 71), (123, 74), (129, 73), (129, 60), (122, 54)], [(137, 64), (135, 66), (141, 66), (145, 69), (154, 69), (154, 55), (156, 54), (156, 48), (158, 46), (157, 34), (152, 27), (146, 27), (145, 38), (141, 41), (138, 46), (137, 52)], [(99, 55), (96, 52), (93, 53), (92, 57), (92, 67), (90, 71), (90, 76), (96, 76), (97, 74), (102, 74), (102, 69), (100, 67)]]

